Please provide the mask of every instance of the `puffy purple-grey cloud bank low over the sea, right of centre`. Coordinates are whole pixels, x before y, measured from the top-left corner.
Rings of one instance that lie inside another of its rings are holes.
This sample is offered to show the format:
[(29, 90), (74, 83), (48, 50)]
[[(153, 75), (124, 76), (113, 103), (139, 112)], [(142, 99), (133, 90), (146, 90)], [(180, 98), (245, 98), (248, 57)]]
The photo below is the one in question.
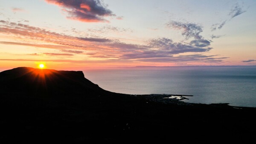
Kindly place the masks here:
[(175, 54), (186, 52), (208, 52), (210, 49), (207, 40), (192, 40), (191, 43), (175, 43), (169, 38), (157, 38), (148, 41), (148, 45), (140, 49), (128, 51), (128, 54), (120, 56), (120, 59), (141, 59), (141, 58), (166, 58)]

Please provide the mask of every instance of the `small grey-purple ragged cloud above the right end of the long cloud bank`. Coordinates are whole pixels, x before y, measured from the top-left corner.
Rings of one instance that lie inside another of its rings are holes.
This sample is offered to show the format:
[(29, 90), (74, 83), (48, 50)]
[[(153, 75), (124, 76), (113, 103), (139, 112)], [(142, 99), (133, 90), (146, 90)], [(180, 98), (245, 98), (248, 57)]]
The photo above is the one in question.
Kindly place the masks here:
[(194, 37), (196, 40), (202, 39), (202, 36), (199, 35), (201, 32), (203, 32), (202, 26), (196, 23), (170, 21), (169, 23), (166, 23), (166, 26), (170, 29), (181, 29), (181, 35), (185, 36), (186, 39), (189, 39), (191, 37)]

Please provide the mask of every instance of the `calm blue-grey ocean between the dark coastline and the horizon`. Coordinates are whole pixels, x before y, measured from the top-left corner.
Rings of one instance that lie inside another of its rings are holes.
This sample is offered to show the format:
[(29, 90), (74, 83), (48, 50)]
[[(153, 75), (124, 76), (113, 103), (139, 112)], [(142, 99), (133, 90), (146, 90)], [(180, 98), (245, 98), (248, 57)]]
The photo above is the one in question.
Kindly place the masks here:
[(256, 66), (84, 69), (101, 88), (132, 95), (193, 95), (190, 103), (256, 107)]

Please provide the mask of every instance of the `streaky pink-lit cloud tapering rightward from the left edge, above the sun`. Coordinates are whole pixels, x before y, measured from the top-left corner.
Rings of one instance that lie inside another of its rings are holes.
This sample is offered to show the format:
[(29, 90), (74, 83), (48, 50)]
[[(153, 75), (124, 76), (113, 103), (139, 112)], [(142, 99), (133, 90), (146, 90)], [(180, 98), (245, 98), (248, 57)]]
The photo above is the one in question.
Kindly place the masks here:
[(80, 42), (78, 46), (80, 48), (87, 48), (86, 45), (92, 42), (104, 43), (111, 41), (110, 39), (99, 37), (73, 37), (69, 35), (50, 32), (46, 29), (41, 29), (22, 23), (12, 23), (4, 20), (1, 20), (0, 22), (3, 23), (2, 25), (0, 23), (0, 33), (16, 35), (22, 39), (41, 40), (44, 42), (62, 44), (70, 47), (77, 47), (76, 44)]

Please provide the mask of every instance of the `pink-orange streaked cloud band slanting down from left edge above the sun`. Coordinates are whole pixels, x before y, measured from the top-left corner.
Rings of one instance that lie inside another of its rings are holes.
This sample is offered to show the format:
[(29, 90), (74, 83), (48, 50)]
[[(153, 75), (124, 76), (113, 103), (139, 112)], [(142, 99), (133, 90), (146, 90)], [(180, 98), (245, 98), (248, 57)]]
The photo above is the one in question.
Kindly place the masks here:
[[(96, 37), (73, 37), (69, 35), (58, 34), (55, 32), (47, 31), (38, 27), (29, 26), (21, 23), (12, 23), (3, 21), (3, 25), (0, 25), (0, 33), (14, 35), (19, 39), (33, 40), (31, 43), (12, 43), (18, 45), (31, 45), (37, 47), (61, 49), (61, 48), (72, 48), (72, 49), (87, 49), (95, 50), (96, 43), (111, 42), (110, 39), (96, 38)], [(46, 42), (47, 44), (36, 44), (37, 42)], [(1, 42), (4, 43), (4, 42)]]

